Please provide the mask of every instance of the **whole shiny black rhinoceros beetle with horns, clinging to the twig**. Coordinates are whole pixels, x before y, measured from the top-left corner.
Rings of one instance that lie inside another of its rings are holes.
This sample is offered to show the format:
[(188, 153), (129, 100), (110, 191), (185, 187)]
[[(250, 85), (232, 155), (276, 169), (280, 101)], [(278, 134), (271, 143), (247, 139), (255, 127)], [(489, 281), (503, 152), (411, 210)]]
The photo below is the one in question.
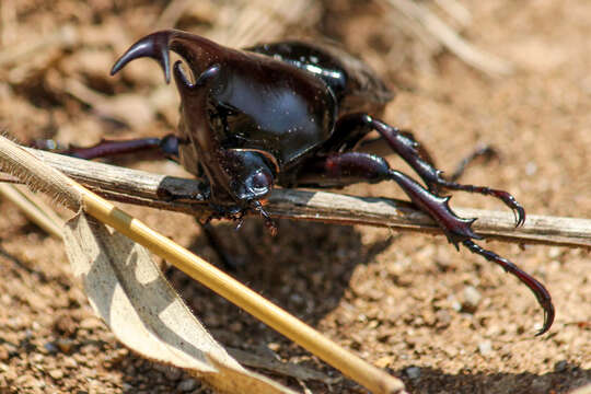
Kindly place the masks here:
[[(240, 219), (255, 211), (271, 232), (276, 227), (264, 201), (275, 185), (326, 188), (394, 181), (456, 248), (462, 243), (525, 283), (544, 310), (544, 325), (537, 335), (549, 329), (554, 305), (545, 287), (513, 263), (475, 244), (473, 240), (480, 239), (472, 230), (475, 219), (457, 217), (449, 207), (450, 197), (440, 196), (440, 190), (499, 198), (513, 210), (518, 227), (525, 220), (523, 207), (507, 192), (443, 177), (412, 134), (363, 112), (380, 112), (393, 96), (368, 66), (331, 46), (280, 42), (237, 50), (166, 30), (139, 39), (111, 73), (131, 60), (150, 57), (170, 82), (170, 50), (178, 54), (190, 71), (188, 74), (183, 69), (181, 60), (172, 67), (181, 95), (177, 135), (138, 140), (135, 146), (121, 142), (107, 151), (157, 144), (205, 181), (216, 218)], [(426, 187), (391, 169), (383, 158), (356, 150), (370, 131), (378, 131)], [(92, 158), (104, 155), (105, 149), (94, 147), (74, 154)]]

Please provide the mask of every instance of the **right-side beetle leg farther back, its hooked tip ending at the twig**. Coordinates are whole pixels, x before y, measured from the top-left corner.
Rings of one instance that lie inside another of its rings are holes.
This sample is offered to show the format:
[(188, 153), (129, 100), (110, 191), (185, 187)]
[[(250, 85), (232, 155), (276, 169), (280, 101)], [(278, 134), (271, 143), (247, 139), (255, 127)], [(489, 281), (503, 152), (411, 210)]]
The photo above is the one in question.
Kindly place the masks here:
[[(488, 195), (502, 200), (515, 216), (517, 227), (525, 221), (525, 210), (507, 192), (494, 189), (486, 186), (463, 185), (453, 181), (448, 181), (442, 176), (442, 172), (432, 165), (432, 160), (427, 151), (413, 138), (409, 132), (403, 132), (385, 123), (374, 119), (367, 114), (349, 114), (339, 119), (345, 128), (354, 129), (356, 127), (376, 130), (387, 141), (390, 147), (401, 155), (422, 178), (427, 187), (432, 193), (438, 193), (440, 188), (452, 190), (464, 190)], [(338, 125), (337, 125), (338, 126)], [(343, 131), (335, 130), (335, 134), (343, 135)]]

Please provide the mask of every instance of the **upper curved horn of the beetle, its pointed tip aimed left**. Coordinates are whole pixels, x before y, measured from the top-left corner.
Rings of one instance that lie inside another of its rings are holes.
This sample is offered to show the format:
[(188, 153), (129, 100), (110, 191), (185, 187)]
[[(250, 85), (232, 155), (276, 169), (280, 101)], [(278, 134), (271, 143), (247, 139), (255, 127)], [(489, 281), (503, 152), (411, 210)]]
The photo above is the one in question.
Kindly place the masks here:
[(149, 34), (131, 45), (115, 62), (111, 74), (116, 74), (131, 60), (150, 57), (159, 62), (166, 83), (169, 83), (171, 81), (169, 50), (181, 55), (189, 65), (194, 76), (198, 76), (208, 65), (219, 59), (229, 49), (195, 34), (177, 30), (160, 31)]

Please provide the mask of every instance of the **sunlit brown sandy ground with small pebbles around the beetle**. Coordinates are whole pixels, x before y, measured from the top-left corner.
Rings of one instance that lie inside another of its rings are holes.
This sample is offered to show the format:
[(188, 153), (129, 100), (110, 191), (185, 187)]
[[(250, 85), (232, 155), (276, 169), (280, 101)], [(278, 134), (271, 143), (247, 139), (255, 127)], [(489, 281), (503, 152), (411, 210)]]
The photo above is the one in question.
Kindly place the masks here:
[[(120, 8), (106, 0), (88, 7), (56, 1), (50, 10), (32, 0), (13, 8), (9, 3), (15, 4), (3, 0), (2, 21), (15, 18), (19, 32), (33, 37), (63, 21), (117, 28), (123, 23), (119, 19), (131, 11), (150, 14), (157, 7), (141, 1)], [(324, 27), (354, 51), (371, 48), (368, 61), (397, 91), (385, 119), (412, 128), (431, 147), (443, 170), (451, 171), (478, 143), (490, 143), (501, 152), (500, 162), (470, 169), (464, 182), (510, 190), (530, 213), (591, 217), (591, 3), (463, 3), (473, 16), (464, 36), (513, 61), (518, 70), (512, 76), (484, 77), (449, 54), (438, 56), (433, 68), (405, 62), (392, 70), (395, 54), (381, 57), (384, 44), (372, 40), (380, 37), (374, 31), (386, 22), (379, 10), (358, 12), (359, 4), (335, 2), (334, 18), (344, 19), (336, 23), (325, 16)], [(68, 16), (69, 8), (81, 13)], [(7, 16), (7, 10), (15, 13)], [(190, 22), (207, 20), (183, 21), (183, 26)], [(19, 43), (21, 38), (5, 26), (2, 44)], [(113, 56), (138, 36), (115, 32), (121, 39), (118, 47), (108, 49)], [(91, 44), (103, 45), (96, 42)], [(85, 70), (100, 71), (89, 71), (83, 78), (94, 90), (112, 94), (140, 89), (139, 81), (127, 80), (128, 88), (117, 86), (124, 83), (120, 80), (107, 81), (113, 58), (92, 58), (92, 50), (78, 48), (66, 50), (76, 61), (61, 63), (60, 73), (68, 67), (80, 72), (76, 66), (91, 58)], [(39, 62), (51, 63), (63, 55), (47, 56), (49, 60)], [(150, 78), (161, 79), (150, 66)], [(102, 72), (105, 76), (97, 77)], [(0, 125), (22, 140), (63, 136), (96, 140), (105, 129), (111, 136), (120, 135), (113, 124), (60, 92), (57, 86), (66, 79), (57, 73), (33, 68), (23, 79), (4, 69)], [(162, 132), (176, 121), (174, 113), (169, 116), (172, 120), (160, 115), (136, 129), (143, 135)], [(142, 166), (172, 171), (172, 164)], [(358, 185), (347, 193), (401, 196), (391, 184)], [(456, 194), (452, 204), (505, 209), (495, 200), (466, 194)], [(192, 218), (137, 207), (129, 210), (217, 262)], [(207, 392), (182, 371), (142, 360), (123, 348), (94, 317), (69, 271), (61, 243), (28, 222), (11, 202), (0, 200), (0, 393)], [(535, 275), (552, 292), (556, 322), (548, 334), (534, 337), (542, 311), (530, 291), (497, 266), (465, 251), (456, 253), (442, 236), (281, 221), (273, 239), (259, 220), (248, 220), (240, 237), (232, 225), (220, 228), (224, 236), (237, 239), (228, 247), (244, 263), (234, 274), (241, 281), (402, 378), (409, 392), (568, 393), (591, 383), (588, 251), (485, 243)], [(253, 352), (270, 349), (281, 360), (337, 375), (184, 274), (171, 268), (167, 275), (222, 344)], [(302, 390), (294, 380), (275, 378)], [(364, 392), (348, 380), (332, 386), (303, 384), (313, 393)]]

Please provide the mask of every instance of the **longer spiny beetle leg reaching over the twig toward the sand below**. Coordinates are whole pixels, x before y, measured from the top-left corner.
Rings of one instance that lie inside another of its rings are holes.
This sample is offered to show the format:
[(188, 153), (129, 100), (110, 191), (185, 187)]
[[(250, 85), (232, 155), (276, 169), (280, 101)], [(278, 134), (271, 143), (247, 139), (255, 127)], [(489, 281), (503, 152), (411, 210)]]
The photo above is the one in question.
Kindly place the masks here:
[(549, 329), (554, 321), (554, 305), (544, 285), (508, 259), (475, 244), (472, 240), (482, 239), (472, 230), (472, 223), (476, 219), (457, 217), (449, 206), (450, 197), (433, 194), (406, 174), (392, 170), (384, 159), (363, 152), (315, 157), (304, 162), (301, 172), (296, 174), (296, 184), (309, 187), (339, 187), (359, 182), (378, 183), (386, 179), (395, 181), (410, 200), (443, 229), (448, 241), (456, 248), (462, 243), (471, 252), (499, 264), (528, 286), (544, 310), (544, 325), (536, 335)]

